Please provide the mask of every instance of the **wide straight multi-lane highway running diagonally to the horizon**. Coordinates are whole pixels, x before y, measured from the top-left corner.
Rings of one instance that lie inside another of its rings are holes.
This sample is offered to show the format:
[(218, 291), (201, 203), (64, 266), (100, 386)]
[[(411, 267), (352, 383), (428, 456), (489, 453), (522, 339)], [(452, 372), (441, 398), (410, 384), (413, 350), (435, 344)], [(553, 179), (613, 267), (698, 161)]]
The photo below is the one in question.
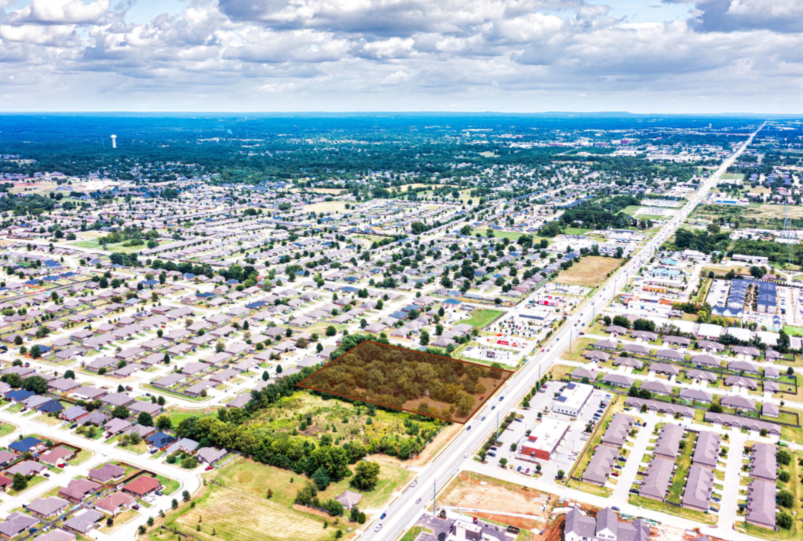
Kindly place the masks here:
[[(704, 199), (708, 191), (716, 185), (720, 176), (736, 161), (753, 140), (753, 137), (763, 127), (763, 125), (759, 127), (733, 155), (722, 163), (714, 174), (704, 181), (694, 198), (640, 252), (618, 270), (608, 281), (607, 286), (592, 297), (585, 306), (582, 306), (579, 313), (575, 313), (567, 319), (566, 324), (544, 346), (544, 353), (531, 357), (524, 367), (514, 377), (510, 378), (495, 396), (491, 397), (486, 407), (466, 423), (466, 428), (462, 430), (460, 435), (432, 463), (421, 471), (418, 476), (418, 485), (407, 489), (406, 492), (384, 509), (384, 513), (386, 513), (385, 519), (374, 521), (374, 523), (370, 524), (360, 539), (363, 541), (374, 539), (395, 540), (415, 523), (424, 512), (425, 507), (432, 501), (435, 491), (445, 486), (460, 470), (460, 464), (465, 460), (465, 456), (472, 454), (491, 436), (496, 428), (497, 413), (501, 422), (511, 410), (516, 408), (540, 376), (545, 374), (552, 364), (560, 358), (563, 351), (569, 347), (572, 334), (576, 334), (575, 330), (585, 327), (598, 310), (607, 306), (616, 291), (624, 287), (628, 279), (641, 267), (644, 261), (649, 260), (655, 251), (660, 248), (661, 244), (674, 234), (675, 230)], [(514, 310), (520, 309), (521, 306), (522, 304), (519, 304)], [(493, 411), (491, 411), (492, 406), (496, 406)], [(479, 421), (483, 416), (486, 417), (486, 420)], [(377, 532), (375, 529), (380, 523), (382, 527)]]

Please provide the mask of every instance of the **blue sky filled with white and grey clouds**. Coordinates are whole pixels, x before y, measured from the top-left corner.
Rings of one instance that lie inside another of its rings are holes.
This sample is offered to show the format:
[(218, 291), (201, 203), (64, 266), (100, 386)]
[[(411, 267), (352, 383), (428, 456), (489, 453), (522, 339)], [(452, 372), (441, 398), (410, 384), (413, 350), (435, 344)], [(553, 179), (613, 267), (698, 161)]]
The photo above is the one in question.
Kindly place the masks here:
[(0, 111), (798, 114), (803, 1), (0, 0)]

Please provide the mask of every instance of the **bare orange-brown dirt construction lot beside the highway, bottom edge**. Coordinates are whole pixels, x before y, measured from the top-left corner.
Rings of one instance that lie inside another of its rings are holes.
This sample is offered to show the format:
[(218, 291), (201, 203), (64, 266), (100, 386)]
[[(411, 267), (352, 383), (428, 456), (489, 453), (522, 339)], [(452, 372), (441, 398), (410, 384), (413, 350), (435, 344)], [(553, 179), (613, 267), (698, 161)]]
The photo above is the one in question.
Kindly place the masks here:
[[(487, 484), (481, 485), (481, 482)], [(461, 472), (457, 479), (453, 480), (438, 497), (438, 503), (454, 507), (484, 509), (489, 512), (500, 511), (548, 518), (551, 505), (547, 505), (546, 511), (541, 511), (544, 505), (540, 501), (541, 496), (542, 493), (537, 490), (503, 484), (491, 477), (479, 474)], [(550, 498), (550, 503), (553, 499), (555, 498)]]

